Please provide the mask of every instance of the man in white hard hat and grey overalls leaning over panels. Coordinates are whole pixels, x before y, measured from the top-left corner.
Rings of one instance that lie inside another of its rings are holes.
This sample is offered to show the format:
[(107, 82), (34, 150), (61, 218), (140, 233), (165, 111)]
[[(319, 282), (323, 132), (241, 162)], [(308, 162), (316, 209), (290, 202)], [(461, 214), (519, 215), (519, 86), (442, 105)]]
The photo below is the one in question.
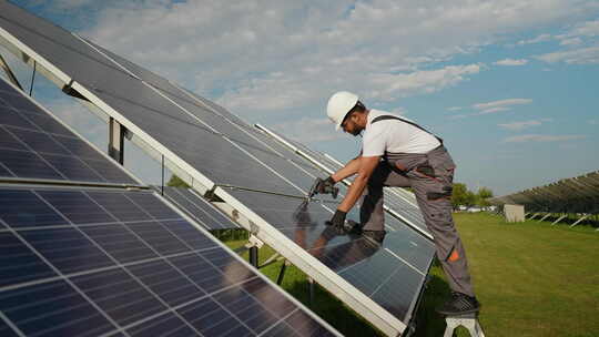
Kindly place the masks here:
[(359, 231), (368, 237), (384, 237), (383, 186), (410, 186), (451, 288), (451, 297), (437, 312), (443, 315), (478, 312), (480, 305), (451, 217), (455, 164), (443, 141), (405, 118), (367, 110), (357, 95), (346, 91), (331, 96), (327, 115), (336, 130), (343, 127), (354, 136), (364, 132), (361, 155), (317, 186), (319, 192), (329, 191), (336, 182), (357, 175), (329, 224), (347, 228), (345, 216), (365, 193)]

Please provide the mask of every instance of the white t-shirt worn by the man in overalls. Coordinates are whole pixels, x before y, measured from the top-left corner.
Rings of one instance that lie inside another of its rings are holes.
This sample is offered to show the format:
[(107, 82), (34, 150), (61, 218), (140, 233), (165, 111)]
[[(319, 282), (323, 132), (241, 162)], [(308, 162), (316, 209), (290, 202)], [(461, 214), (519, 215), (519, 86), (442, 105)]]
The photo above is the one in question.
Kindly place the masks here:
[[(380, 115), (394, 114), (380, 110), (370, 110), (362, 141), (363, 156), (378, 156), (385, 154), (385, 152), (427, 153), (440, 145), (440, 142), (430, 133), (403, 121), (384, 120), (370, 124), (374, 119)], [(404, 116), (399, 118), (410, 121)]]

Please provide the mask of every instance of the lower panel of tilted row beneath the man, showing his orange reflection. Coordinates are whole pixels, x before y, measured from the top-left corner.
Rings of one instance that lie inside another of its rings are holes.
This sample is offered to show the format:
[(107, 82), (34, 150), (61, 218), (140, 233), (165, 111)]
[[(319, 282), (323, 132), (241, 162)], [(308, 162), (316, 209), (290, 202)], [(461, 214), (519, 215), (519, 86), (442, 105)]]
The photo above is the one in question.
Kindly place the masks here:
[(332, 213), (321, 203), (246, 191), (230, 193), (400, 320), (410, 318), (435, 254), (429, 239), (399, 223), (377, 246), (363, 236), (337, 235), (325, 225)]

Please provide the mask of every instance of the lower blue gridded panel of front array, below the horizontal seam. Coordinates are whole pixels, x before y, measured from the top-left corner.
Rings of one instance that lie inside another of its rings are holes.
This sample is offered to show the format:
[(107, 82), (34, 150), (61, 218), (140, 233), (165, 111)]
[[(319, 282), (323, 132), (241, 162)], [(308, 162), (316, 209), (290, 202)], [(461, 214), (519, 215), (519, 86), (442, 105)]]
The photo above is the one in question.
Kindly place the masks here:
[(333, 336), (152, 193), (0, 200), (1, 336)]

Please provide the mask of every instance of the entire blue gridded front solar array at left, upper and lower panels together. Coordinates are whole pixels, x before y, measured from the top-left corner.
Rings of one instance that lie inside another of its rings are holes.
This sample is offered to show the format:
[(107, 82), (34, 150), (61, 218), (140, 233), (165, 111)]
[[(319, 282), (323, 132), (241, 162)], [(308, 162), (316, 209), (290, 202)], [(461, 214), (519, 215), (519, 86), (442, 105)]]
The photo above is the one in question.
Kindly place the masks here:
[(200, 228), (231, 223), (202, 198), (194, 224), (3, 80), (0, 101), (0, 336), (338, 334)]

